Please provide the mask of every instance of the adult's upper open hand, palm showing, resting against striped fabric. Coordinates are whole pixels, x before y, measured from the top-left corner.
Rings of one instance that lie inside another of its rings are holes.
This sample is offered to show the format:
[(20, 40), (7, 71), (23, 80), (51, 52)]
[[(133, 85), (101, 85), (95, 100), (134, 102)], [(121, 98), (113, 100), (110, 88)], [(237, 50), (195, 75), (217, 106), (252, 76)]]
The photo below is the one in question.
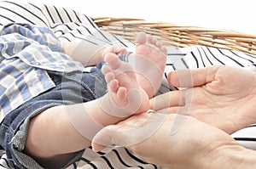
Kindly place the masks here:
[(151, 109), (191, 115), (228, 133), (256, 123), (253, 71), (230, 66), (177, 70), (168, 75), (168, 82), (187, 88), (152, 99)]

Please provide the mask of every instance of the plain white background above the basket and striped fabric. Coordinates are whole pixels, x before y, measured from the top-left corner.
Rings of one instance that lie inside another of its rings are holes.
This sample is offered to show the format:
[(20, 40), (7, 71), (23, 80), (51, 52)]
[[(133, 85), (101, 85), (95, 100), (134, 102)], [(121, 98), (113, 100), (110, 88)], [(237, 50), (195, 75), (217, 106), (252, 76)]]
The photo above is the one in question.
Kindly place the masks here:
[(24, 0), (61, 5), (91, 17), (125, 17), (256, 35), (253, 0)]

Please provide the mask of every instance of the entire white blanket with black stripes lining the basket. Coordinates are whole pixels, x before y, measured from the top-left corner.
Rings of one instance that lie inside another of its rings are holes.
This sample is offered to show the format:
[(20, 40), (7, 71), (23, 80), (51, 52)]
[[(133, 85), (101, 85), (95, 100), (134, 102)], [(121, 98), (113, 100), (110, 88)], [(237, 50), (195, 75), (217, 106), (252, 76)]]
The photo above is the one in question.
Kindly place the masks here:
[[(36, 3), (0, 2), (0, 27), (12, 22), (44, 25), (52, 29), (61, 42), (75, 39), (86, 40), (97, 45), (121, 43), (134, 50), (134, 44), (123, 37), (114, 36), (101, 29), (88, 15), (82, 12)], [(256, 56), (237, 51), (204, 46), (188, 48), (168, 47), (168, 59), (165, 75), (171, 70), (200, 68), (209, 65), (232, 65), (249, 70), (255, 68)], [(172, 90), (166, 83), (166, 76), (160, 87), (160, 93)], [(256, 126), (242, 129), (232, 135), (242, 145), (249, 149), (256, 149)], [(0, 150), (0, 168), (10, 168), (4, 149)], [(89, 147), (84, 149), (78, 158), (67, 165), (67, 169), (74, 168), (161, 168), (148, 164), (128, 149), (116, 148), (108, 153), (93, 152)]]

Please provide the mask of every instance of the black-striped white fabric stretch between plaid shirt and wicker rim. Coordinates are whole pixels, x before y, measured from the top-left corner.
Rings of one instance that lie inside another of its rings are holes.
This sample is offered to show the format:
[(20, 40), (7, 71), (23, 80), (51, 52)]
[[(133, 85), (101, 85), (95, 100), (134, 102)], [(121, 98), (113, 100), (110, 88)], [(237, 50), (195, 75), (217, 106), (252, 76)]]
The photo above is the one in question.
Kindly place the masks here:
[(133, 43), (101, 31), (89, 16), (72, 9), (40, 3), (1, 1), (0, 11), (0, 25), (12, 22), (44, 25), (52, 29), (61, 41), (85, 40), (96, 45), (121, 43), (127, 48), (133, 47)]

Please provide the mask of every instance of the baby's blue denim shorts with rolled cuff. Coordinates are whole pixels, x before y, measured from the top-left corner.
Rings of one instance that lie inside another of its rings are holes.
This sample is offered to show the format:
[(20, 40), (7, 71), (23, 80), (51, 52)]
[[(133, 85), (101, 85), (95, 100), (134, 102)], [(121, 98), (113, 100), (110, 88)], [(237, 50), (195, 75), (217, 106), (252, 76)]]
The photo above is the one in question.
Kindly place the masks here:
[(64, 74), (49, 71), (55, 87), (5, 116), (1, 123), (0, 144), (6, 150), (11, 168), (42, 168), (31, 157), (22, 153), (30, 119), (56, 105), (79, 104), (102, 97), (107, 93), (107, 83), (101, 72), (103, 64), (103, 61), (100, 62), (90, 72)]

